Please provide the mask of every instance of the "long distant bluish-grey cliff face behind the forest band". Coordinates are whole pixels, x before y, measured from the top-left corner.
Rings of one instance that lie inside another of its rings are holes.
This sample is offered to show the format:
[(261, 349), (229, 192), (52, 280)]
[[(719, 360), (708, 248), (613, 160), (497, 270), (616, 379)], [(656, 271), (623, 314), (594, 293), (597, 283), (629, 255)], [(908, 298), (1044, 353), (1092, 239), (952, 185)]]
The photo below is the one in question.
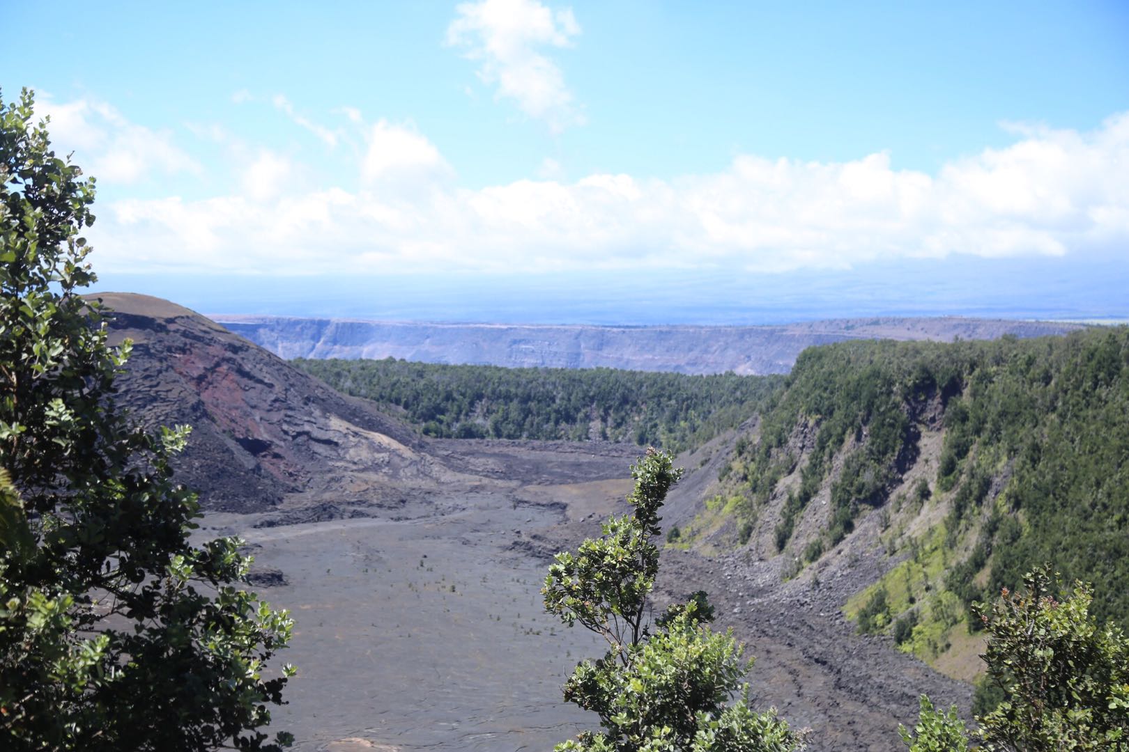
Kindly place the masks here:
[(509, 368), (615, 368), (679, 373), (787, 373), (812, 345), (843, 339), (994, 339), (1065, 334), (1077, 325), (965, 318), (873, 318), (786, 326), (517, 326), (212, 316), (286, 357), (397, 357)]

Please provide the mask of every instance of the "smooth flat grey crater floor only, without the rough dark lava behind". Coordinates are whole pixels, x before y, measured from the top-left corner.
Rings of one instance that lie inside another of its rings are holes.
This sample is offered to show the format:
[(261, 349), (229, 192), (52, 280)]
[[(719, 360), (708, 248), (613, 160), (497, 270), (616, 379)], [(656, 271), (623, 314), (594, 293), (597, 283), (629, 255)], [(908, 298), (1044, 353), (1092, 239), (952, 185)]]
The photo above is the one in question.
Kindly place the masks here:
[[(504, 498), (466, 513), (246, 531), (256, 564), (286, 572), (298, 666), (275, 726), (297, 749), (360, 737), (403, 750), (549, 749), (584, 715), (560, 701), (594, 639), (542, 613), (542, 566), (507, 552)], [(520, 510), (537, 524), (543, 511)], [(509, 533), (511, 534), (511, 533)], [(570, 657), (575, 656), (575, 657)]]

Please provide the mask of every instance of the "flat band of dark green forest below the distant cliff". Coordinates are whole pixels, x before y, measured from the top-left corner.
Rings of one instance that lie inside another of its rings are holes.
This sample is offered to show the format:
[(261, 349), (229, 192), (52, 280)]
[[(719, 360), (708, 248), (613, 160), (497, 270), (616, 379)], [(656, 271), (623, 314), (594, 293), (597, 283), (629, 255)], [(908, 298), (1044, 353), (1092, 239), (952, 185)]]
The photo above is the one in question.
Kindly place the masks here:
[(752, 416), (782, 377), (304, 360), (338, 391), (394, 405), (429, 436), (605, 440), (675, 452)]

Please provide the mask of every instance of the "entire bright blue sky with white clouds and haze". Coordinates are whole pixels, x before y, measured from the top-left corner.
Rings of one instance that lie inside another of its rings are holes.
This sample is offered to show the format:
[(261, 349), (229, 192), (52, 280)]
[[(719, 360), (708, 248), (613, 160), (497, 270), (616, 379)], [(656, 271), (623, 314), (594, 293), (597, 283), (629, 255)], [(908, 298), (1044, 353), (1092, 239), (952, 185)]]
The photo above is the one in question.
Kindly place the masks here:
[(325, 5), (0, 5), (5, 98), (35, 88), (98, 177), (106, 286), (385, 318), (1129, 316), (1126, 3)]

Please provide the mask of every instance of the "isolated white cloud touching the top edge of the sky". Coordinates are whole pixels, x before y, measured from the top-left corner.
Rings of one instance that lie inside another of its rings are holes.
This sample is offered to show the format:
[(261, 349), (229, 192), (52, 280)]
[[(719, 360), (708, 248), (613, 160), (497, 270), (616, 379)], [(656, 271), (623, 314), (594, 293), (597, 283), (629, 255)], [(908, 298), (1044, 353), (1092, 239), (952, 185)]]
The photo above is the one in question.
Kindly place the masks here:
[(515, 100), (554, 133), (584, 124), (560, 68), (539, 52), (571, 46), (580, 34), (571, 8), (551, 10), (539, 0), (481, 0), (461, 3), (456, 14), (447, 44), (479, 63), (479, 78), (497, 86), (498, 98)]

